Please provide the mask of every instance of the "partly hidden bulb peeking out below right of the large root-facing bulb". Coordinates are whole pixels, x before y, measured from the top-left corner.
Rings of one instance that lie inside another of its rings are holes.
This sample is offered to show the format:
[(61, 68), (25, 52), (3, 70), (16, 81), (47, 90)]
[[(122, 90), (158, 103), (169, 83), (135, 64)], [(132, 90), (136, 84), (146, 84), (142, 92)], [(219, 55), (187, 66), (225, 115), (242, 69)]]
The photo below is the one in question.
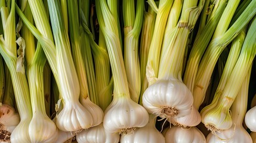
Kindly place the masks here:
[(194, 106), (192, 106), (191, 114), (184, 117), (171, 117), (171, 123), (174, 126), (191, 127), (197, 126), (201, 122), (201, 114)]

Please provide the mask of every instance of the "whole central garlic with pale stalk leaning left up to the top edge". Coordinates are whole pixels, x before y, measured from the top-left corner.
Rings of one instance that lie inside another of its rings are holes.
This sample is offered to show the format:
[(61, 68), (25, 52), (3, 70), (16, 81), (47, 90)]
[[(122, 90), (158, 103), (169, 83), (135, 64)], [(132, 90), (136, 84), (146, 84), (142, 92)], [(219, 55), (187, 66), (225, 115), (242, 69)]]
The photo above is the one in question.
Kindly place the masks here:
[(118, 30), (119, 22), (115, 18), (115, 15), (118, 14), (117, 1), (107, 3), (105, 0), (97, 0), (95, 4), (98, 23), (109, 52), (114, 82), (113, 100), (105, 110), (103, 125), (110, 133), (130, 133), (136, 128), (145, 126), (149, 116), (145, 108), (132, 101), (129, 95), (121, 40), (119, 39), (121, 33)]

